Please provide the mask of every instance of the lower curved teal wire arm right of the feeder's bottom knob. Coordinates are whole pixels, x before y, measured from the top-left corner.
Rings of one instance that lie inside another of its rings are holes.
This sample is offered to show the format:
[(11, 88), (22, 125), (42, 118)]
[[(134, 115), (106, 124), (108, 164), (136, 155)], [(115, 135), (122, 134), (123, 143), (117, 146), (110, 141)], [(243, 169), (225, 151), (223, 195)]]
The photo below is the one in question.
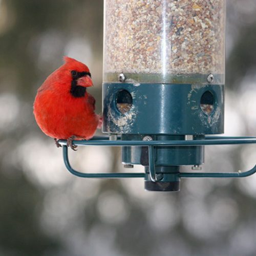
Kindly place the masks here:
[(256, 165), (247, 172), (237, 173), (180, 173), (180, 178), (243, 178), (256, 173)]

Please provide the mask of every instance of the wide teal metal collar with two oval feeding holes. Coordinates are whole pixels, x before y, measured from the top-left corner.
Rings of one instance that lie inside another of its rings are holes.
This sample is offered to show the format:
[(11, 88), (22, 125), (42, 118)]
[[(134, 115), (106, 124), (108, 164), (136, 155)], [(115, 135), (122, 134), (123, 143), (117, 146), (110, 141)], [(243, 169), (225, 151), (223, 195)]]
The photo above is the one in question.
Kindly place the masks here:
[[(131, 109), (126, 113), (121, 113), (117, 106), (118, 95), (123, 90), (132, 96)], [(214, 97), (212, 112), (208, 114), (201, 109), (205, 92)], [(210, 135), (224, 132), (224, 85), (103, 83), (102, 97), (103, 133)]]

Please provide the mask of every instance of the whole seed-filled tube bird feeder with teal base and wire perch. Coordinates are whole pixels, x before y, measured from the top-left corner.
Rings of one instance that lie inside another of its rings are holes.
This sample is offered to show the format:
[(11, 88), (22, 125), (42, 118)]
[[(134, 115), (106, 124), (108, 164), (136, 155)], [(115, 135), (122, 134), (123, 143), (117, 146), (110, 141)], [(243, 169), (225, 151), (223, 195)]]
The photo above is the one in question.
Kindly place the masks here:
[[(181, 178), (245, 177), (256, 172), (195, 172), (204, 146), (256, 143), (224, 132), (225, 0), (105, 0), (103, 127), (109, 135), (76, 145), (122, 146), (125, 167), (145, 173), (86, 174), (143, 177), (145, 189), (177, 191)], [(65, 141), (62, 141), (64, 144)], [(193, 172), (182, 173), (180, 166)]]

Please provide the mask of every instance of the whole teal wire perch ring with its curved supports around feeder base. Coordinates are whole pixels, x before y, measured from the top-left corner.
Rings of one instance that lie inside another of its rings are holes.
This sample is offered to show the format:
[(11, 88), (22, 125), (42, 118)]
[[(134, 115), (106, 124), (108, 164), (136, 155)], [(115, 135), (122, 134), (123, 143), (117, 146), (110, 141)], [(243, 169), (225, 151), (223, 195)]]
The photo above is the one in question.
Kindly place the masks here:
[[(66, 145), (66, 140), (60, 140), (60, 144), (62, 144), (63, 148), (63, 159), (65, 165), (69, 172), (73, 175), (82, 177), (82, 178), (145, 178), (145, 173), (81, 173), (77, 170), (74, 170), (69, 162), (68, 158), (68, 147)], [(254, 173), (256, 173), (256, 165), (248, 170), (247, 172), (237, 172), (237, 173), (169, 173), (163, 174), (156, 172), (155, 166), (155, 155), (154, 155), (154, 147), (155, 146), (188, 146), (188, 145), (220, 145), (220, 144), (256, 144), (255, 137), (209, 137), (205, 138), (204, 140), (198, 141), (191, 141), (191, 140), (174, 140), (174, 141), (123, 141), (123, 140), (116, 140), (110, 141), (107, 137), (101, 137), (100, 140), (92, 139), (89, 141), (74, 141), (75, 145), (104, 145), (104, 146), (148, 146), (148, 160), (149, 160), (149, 175), (152, 181), (154, 182), (166, 182), (166, 181), (177, 181), (179, 178), (240, 178), (240, 177), (247, 177)], [(160, 175), (159, 175), (160, 174)], [(148, 175), (148, 174), (147, 174)]]

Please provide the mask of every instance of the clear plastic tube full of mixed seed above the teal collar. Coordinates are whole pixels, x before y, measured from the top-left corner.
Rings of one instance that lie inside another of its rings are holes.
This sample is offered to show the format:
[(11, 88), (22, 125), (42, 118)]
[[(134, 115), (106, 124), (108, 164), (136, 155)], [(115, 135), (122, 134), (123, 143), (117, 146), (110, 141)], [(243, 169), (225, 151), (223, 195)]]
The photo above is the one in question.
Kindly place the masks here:
[(225, 0), (104, 0), (103, 81), (224, 84)]

